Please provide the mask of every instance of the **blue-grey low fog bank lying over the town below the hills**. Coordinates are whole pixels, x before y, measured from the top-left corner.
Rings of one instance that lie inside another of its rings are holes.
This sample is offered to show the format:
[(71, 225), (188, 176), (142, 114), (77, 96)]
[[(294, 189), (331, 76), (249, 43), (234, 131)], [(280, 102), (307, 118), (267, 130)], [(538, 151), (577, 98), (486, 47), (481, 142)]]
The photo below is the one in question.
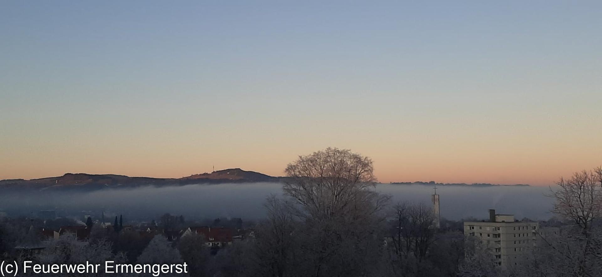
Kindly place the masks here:
[[(377, 184), (376, 190), (393, 196), (392, 202), (430, 203), (433, 187), (427, 185)], [(487, 218), (487, 209), (514, 214), (517, 219), (548, 219), (553, 199), (549, 187), (538, 186), (445, 186), (438, 187), (441, 216), (461, 219)], [(0, 211), (9, 216), (37, 215), (55, 210), (57, 216), (92, 215), (98, 218), (123, 214), (129, 219), (156, 219), (163, 213), (187, 219), (243, 218), (264, 216), (264, 199), (282, 194), (278, 183), (193, 184), (177, 187), (137, 187), (96, 192), (36, 192), (0, 195)]]

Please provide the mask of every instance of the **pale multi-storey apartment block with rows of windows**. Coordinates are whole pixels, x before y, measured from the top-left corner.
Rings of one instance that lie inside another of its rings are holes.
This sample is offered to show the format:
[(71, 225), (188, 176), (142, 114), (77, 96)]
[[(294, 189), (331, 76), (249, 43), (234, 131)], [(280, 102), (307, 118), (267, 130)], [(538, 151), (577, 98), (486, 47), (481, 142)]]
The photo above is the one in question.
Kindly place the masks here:
[(491, 251), (492, 262), (502, 269), (518, 265), (538, 239), (537, 222), (522, 222), (514, 215), (489, 210), (489, 221), (464, 222), (464, 234), (479, 237)]

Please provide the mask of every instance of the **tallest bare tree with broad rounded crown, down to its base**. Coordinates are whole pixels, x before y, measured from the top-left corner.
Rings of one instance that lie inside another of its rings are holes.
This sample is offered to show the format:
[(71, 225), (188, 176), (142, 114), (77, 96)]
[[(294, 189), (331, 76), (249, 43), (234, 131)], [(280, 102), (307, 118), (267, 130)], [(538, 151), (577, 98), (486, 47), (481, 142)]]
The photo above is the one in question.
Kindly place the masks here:
[[(379, 222), (389, 196), (373, 190), (372, 160), (326, 148), (290, 163), (284, 194), (299, 219), (298, 276), (365, 276), (382, 246)], [(291, 275), (293, 272), (291, 272)]]

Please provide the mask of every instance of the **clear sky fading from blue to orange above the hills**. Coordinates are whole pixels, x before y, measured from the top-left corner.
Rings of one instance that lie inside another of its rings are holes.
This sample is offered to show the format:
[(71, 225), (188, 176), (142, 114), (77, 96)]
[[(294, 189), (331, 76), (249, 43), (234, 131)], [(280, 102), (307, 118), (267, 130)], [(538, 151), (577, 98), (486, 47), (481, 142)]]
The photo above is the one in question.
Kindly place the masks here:
[(0, 179), (551, 184), (602, 165), (601, 1), (0, 1)]

